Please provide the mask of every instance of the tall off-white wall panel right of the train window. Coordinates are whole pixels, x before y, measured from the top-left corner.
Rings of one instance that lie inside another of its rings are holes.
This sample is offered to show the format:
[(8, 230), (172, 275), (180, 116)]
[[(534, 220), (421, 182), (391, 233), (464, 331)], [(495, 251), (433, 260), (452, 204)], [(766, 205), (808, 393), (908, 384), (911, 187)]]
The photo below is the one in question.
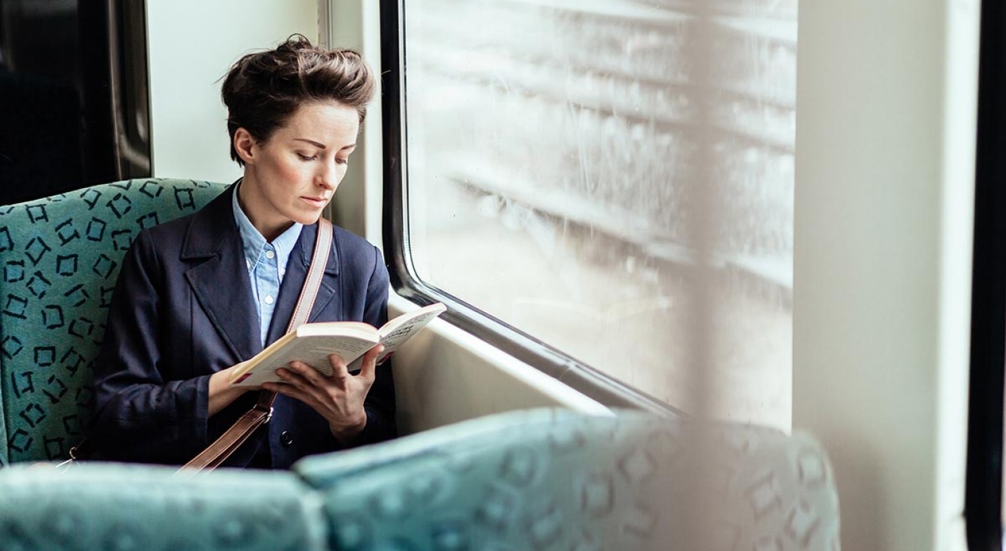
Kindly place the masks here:
[(846, 551), (961, 545), (976, 4), (800, 3), (794, 428)]

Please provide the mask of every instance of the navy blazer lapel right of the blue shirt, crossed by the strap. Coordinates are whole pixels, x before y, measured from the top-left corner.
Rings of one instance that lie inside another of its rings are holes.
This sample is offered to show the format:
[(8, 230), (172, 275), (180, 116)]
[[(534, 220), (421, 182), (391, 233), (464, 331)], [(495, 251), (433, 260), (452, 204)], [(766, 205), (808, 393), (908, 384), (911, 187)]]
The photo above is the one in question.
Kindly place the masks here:
[[(311, 255), (314, 252), (315, 235), (318, 232), (318, 224), (304, 226), (301, 236), (290, 252), (290, 260), (287, 262), (287, 272), (283, 277), (283, 284), (280, 286), (280, 296), (277, 297), (276, 310), (273, 311), (273, 321), (270, 323), (267, 344), (286, 335), (287, 326), (290, 325), (290, 318), (294, 315), (294, 308), (297, 300), (301, 297), (301, 290), (304, 288), (304, 281), (308, 276), (308, 266), (311, 265)], [(328, 261), (325, 265), (325, 277), (322, 278), (321, 286), (318, 288), (318, 296), (315, 298), (314, 306), (311, 308), (311, 316), (308, 322), (316, 321), (326, 310), (337, 313), (335, 320), (343, 318), (342, 305), (331, 304), (333, 301), (339, 303), (340, 297), (335, 292), (334, 286), (338, 285), (337, 276), (339, 273), (336, 258), (338, 243), (332, 240), (332, 250), (329, 253)], [(328, 317), (325, 321), (332, 321)]]

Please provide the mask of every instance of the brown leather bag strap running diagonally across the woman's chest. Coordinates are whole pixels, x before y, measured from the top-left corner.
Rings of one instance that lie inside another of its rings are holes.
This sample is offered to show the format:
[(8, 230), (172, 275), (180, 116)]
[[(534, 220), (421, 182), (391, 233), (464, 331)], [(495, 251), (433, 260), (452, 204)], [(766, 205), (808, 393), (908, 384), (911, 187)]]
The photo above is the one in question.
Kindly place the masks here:
[[(297, 299), (297, 307), (290, 317), (290, 325), (287, 326), (287, 333), (294, 331), (298, 327), (307, 323), (311, 316), (311, 309), (314, 307), (315, 298), (318, 297), (318, 289), (321, 287), (322, 277), (325, 274), (325, 264), (328, 263), (328, 256), (332, 249), (332, 222), (325, 218), (318, 219), (318, 235), (315, 238), (315, 248), (311, 255), (311, 265), (308, 267), (308, 276), (304, 280), (304, 287), (301, 288), (301, 296)], [(182, 466), (181, 470), (187, 474), (195, 474), (200, 471), (209, 471), (220, 466), (227, 457), (256, 431), (257, 428), (269, 422), (273, 416), (273, 402), (276, 400), (276, 392), (268, 390), (259, 391), (259, 400), (255, 407), (249, 409), (234, 422), (230, 428), (226, 429), (219, 438), (209, 444), (198, 455), (189, 463)]]

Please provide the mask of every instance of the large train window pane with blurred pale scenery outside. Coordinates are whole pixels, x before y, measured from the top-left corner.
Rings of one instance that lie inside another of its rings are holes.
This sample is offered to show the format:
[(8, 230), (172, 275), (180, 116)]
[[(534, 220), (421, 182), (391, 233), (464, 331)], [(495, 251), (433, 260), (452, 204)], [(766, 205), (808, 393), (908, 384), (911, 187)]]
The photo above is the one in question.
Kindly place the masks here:
[(789, 426), (796, 4), (402, 2), (408, 276), (684, 410), (704, 366), (716, 416)]

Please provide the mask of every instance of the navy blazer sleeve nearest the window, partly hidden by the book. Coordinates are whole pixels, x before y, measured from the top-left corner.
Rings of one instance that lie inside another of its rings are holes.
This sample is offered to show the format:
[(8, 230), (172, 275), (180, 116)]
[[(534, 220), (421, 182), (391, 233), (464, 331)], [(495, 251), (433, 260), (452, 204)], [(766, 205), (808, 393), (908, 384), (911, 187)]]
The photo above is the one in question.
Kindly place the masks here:
[[(387, 322), (387, 294), (390, 284), (380, 250), (373, 247), (373, 253), (374, 268), (367, 284), (363, 321), (374, 327), (381, 327)], [(373, 443), (397, 435), (391, 360), (377, 366), (374, 384), (367, 393), (363, 408), (367, 413), (367, 424), (354, 439), (353, 445)]]

